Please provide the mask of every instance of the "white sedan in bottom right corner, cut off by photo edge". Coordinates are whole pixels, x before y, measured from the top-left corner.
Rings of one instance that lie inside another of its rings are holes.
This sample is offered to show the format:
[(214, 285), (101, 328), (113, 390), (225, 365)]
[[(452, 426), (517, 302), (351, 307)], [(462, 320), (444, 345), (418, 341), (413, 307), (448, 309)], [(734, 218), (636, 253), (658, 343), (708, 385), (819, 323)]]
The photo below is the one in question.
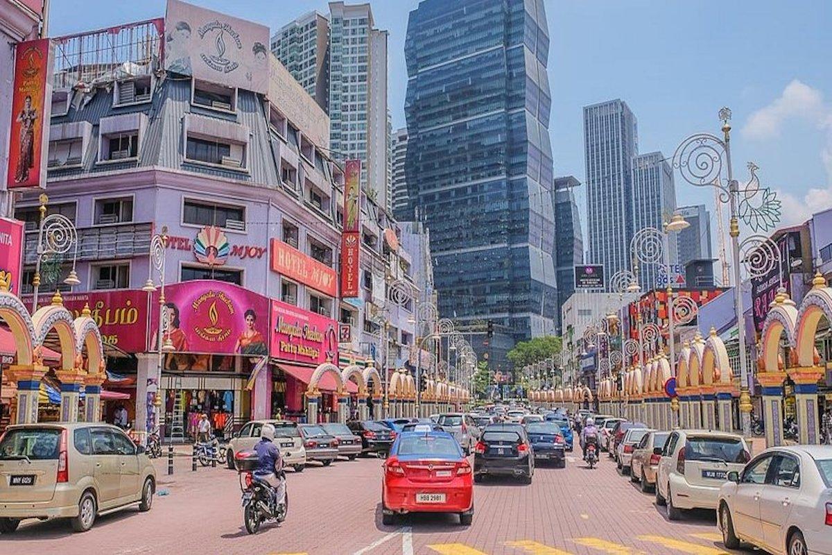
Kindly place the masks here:
[(766, 449), (720, 488), (726, 548), (741, 541), (770, 553), (832, 553), (832, 447)]

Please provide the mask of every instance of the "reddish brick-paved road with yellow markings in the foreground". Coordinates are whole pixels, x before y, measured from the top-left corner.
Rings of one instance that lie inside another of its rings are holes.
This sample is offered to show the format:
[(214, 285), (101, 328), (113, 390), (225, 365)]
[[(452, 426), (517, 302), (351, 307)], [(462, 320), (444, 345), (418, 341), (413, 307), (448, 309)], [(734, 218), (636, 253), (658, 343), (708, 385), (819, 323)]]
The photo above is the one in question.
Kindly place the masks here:
[[(225, 468), (190, 471), (176, 459), (169, 479), (159, 462), (168, 495), (156, 497), (149, 513), (128, 509), (102, 517), (88, 533), (66, 523), (22, 523), (0, 536), (0, 553), (278, 553), (409, 555), (635, 555), (636, 553), (726, 552), (713, 513), (693, 513), (669, 523), (653, 496), (640, 493), (617, 474), (606, 457), (599, 468), (583, 463), (537, 468), (530, 486), (493, 481), (478, 484), (473, 525), (455, 517), (419, 515), (399, 526), (381, 525), (381, 461), (310, 465), (288, 479), (290, 515), (280, 527), (265, 524), (256, 536), (242, 528), (237, 474)], [(735, 552), (734, 552), (735, 553)]]

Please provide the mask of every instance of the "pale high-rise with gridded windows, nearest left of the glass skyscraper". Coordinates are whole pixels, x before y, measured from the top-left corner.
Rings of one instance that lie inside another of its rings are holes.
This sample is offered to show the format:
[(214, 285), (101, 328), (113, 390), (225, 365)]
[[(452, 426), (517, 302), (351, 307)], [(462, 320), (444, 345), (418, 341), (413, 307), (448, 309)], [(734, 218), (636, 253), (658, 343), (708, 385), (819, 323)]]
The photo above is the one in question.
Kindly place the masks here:
[(388, 207), (387, 31), (369, 3), (329, 2), (329, 118), (332, 155), (361, 160), (362, 188)]

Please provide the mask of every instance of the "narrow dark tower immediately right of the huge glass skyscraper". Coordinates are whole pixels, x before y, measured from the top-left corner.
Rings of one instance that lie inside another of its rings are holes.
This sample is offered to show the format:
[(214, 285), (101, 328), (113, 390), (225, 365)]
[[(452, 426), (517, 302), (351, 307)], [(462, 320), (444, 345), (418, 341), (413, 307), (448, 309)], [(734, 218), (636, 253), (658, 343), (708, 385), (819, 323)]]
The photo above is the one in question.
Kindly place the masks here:
[(575, 292), (575, 265), (583, 263), (581, 215), (572, 192), (581, 182), (574, 176), (556, 177), (552, 190), (555, 206), (555, 266), (557, 269), (557, 327), (562, 334), (563, 303)]

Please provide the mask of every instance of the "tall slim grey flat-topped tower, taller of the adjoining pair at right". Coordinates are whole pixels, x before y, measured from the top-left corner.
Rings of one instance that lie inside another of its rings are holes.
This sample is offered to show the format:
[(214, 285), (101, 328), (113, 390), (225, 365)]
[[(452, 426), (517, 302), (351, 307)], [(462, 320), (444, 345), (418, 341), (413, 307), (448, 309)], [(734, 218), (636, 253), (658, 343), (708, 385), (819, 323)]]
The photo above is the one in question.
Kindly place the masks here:
[(638, 154), (636, 116), (616, 99), (583, 108), (587, 162), (587, 262), (604, 265), (604, 277), (631, 265), (632, 159)]

